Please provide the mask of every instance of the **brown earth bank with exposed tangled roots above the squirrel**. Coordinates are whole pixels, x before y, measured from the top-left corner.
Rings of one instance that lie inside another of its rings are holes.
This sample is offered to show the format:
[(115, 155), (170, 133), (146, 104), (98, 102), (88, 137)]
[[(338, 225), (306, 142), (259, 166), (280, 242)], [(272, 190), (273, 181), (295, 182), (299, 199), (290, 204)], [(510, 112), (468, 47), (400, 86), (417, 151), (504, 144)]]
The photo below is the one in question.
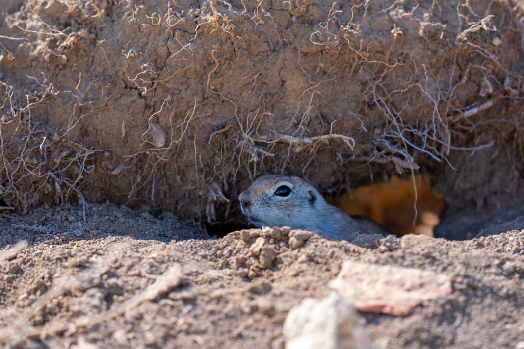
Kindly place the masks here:
[(110, 199), (214, 222), (266, 172), (323, 192), (429, 172), (456, 207), (522, 186), (520, 2), (0, 6), (5, 208)]

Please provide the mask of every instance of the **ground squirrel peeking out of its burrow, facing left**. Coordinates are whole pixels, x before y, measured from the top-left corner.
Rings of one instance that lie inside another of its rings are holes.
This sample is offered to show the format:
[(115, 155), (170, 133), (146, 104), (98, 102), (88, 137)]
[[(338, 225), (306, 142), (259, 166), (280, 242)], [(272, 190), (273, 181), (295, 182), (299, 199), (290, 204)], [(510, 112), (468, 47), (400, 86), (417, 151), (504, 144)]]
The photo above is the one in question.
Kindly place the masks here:
[(374, 236), (377, 239), (386, 235), (377, 223), (367, 218), (350, 217), (328, 204), (318, 190), (297, 176), (260, 176), (238, 198), (242, 213), (258, 228), (318, 231), (328, 238), (348, 241), (362, 234), (377, 234)]

